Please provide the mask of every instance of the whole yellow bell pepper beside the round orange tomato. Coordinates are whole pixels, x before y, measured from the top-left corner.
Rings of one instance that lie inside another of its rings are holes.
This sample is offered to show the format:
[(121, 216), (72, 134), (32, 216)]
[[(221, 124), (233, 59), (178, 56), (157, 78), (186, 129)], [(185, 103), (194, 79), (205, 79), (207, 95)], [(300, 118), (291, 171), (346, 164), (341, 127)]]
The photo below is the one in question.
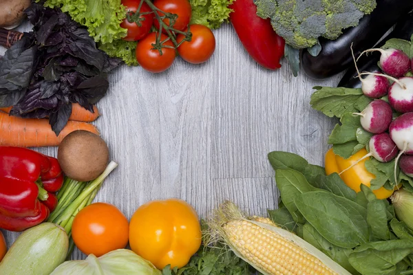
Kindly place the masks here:
[(145, 203), (129, 225), (131, 250), (159, 270), (186, 265), (200, 248), (201, 236), (198, 214), (180, 199)]

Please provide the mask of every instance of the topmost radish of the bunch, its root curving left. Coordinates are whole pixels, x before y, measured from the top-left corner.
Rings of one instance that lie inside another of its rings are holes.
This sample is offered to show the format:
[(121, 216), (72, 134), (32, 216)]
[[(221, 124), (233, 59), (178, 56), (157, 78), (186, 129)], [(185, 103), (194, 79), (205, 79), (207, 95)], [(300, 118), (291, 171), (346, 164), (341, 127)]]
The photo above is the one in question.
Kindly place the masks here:
[(389, 76), (394, 76), (396, 78), (399, 78), (407, 74), (407, 72), (410, 72), (410, 69), (412, 69), (412, 64), (411, 64), (409, 56), (407, 56), (407, 54), (405, 54), (401, 50), (370, 49), (370, 50), (366, 50), (362, 52), (360, 56), (368, 52), (380, 52), (381, 53), (380, 67), (383, 70), (383, 72), (385, 72), (385, 74), (388, 74)]

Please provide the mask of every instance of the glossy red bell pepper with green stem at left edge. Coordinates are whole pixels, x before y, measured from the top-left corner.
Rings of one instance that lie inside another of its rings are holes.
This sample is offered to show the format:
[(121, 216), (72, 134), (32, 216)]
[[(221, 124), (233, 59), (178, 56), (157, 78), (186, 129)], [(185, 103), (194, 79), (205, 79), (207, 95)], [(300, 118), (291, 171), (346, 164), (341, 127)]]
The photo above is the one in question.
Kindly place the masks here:
[(47, 219), (63, 173), (54, 157), (28, 148), (0, 146), (0, 228), (22, 231)]

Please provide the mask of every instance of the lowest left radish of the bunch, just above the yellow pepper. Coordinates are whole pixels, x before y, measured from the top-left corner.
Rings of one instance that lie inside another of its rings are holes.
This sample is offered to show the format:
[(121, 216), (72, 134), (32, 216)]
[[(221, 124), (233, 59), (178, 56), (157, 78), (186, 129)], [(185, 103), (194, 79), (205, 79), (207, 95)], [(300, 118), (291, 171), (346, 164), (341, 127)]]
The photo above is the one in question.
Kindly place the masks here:
[(370, 154), (379, 162), (390, 162), (399, 153), (399, 149), (388, 133), (373, 135), (368, 146)]

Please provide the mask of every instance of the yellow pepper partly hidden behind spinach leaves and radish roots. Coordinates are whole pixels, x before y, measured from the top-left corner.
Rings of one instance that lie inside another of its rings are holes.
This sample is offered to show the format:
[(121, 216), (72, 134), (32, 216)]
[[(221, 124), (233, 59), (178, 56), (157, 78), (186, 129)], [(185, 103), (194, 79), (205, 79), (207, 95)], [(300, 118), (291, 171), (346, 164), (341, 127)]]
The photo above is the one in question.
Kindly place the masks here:
[[(340, 174), (341, 171), (346, 170), (346, 168), (355, 164), (359, 159), (361, 159), (361, 157), (367, 155), (367, 153), (367, 150), (363, 148), (348, 159), (344, 159), (339, 155), (335, 155), (332, 148), (330, 148), (330, 150), (326, 153), (326, 174)], [(375, 176), (366, 169), (366, 166), (364, 165), (366, 160), (367, 159), (363, 159), (361, 162), (355, 164), (352, 168), (346, 170), (340, 175), (346, 185), (356, 192), (360, 192), (360, 184), (370, 187), (370, 181), (375, 178)], [(387, 199), (394, 192), (394, 190), (388, 190), (383, 186), (372, 191), (374, 195), (376, 195), (377, 199)]]

